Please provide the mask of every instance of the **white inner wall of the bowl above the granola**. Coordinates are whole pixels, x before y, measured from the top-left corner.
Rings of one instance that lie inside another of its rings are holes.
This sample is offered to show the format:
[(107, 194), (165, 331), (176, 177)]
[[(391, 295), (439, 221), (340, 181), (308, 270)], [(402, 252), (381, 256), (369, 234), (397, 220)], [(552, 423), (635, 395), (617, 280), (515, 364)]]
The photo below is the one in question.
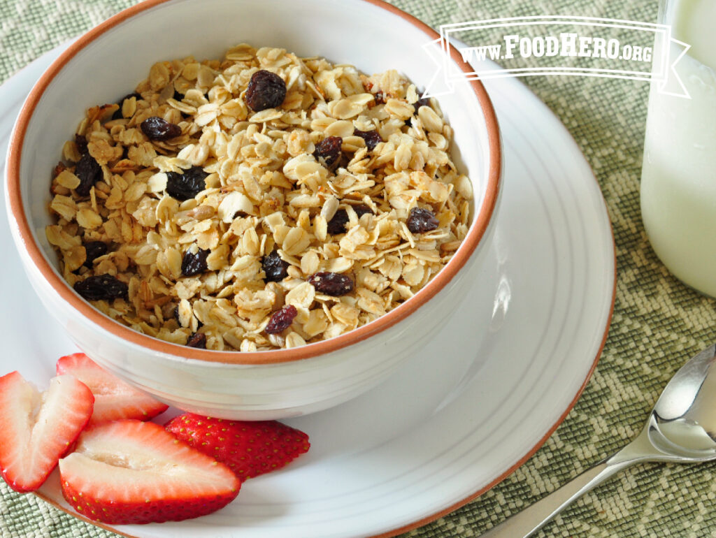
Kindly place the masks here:
[[(153, 63), (190, 55), (221, 58), (228, 47), (248, 42), (354, 64), (366, 74), (397, 69), (418, 89), (427, 87), (437, 71), (422, 50), (435, 36), (387, 4), (369, 0), (150, 1), (88, 36), (80, 40), (83, 47), (70, 48), (74, 55), (64, 57), (64, 65), (51, 68), (54, 77), (34, 108), (21, 147), (24, 211), (34, 241), (60, 280), (57, 255), (44, 234), (52, 223), (47, 210), (52, 168), (85, 109), (132, 92)], [(455, 133), (453, 158), (473, 182), (474, 221), (475, 213), (485, 209), (490, 169), (499, 166), (490, 162), (483, 109), (468, 82), (455, 84), (455, 92), (440, 96), (438, 102)]]

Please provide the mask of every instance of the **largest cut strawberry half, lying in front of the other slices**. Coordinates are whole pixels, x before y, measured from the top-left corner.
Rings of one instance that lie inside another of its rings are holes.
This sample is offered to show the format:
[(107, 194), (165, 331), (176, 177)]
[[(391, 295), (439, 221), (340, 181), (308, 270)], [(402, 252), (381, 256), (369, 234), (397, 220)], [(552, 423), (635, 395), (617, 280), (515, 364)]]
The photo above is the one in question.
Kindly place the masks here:
[(91, 426), (59, 461), (62, 494), (80, 514), (111, 524), (181, 521), (233, 501), (241, 481), (152, 422)]

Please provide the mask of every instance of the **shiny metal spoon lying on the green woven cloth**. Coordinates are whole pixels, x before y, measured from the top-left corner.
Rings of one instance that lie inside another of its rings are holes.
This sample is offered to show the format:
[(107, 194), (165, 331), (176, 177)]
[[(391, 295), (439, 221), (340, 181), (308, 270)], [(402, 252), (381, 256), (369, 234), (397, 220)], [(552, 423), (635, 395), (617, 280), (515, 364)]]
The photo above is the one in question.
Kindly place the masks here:
[(716, 345), (691, 358), (664, 388), (637, 439), (482, 537), (529, 537), (581, 495), (629, 465), (716, 459), (715, 361)]

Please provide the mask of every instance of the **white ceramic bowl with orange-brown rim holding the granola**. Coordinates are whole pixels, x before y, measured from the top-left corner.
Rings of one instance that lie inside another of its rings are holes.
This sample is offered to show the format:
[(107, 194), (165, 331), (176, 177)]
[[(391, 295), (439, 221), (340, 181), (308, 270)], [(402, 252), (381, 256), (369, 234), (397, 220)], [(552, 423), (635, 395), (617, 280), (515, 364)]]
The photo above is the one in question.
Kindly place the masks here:
[[(480, 82), (440, 97), (455, 130), (453, 157), (470, 175), (473, 224), (453, 260), (400, 307), (337, 338), (291, 350), (204, 351), (160, 341), (92, 308), (65, 283), (44, 228), (50, 171), (84, 110), (131, 92), (161, 59), (216, 58), (242, 41), (322, 56), (363, 72), (398, 69), (425, 87), (435, 66), (422, 45), (437, 34), (377, 0), (149, 0), (89, 31), (39, 79), (11, 137), (6, 200), (21, 259), (44, 305), (87, 355), (187, 411), (278, 419), (346, 401), (386, 378), (455, 314), (480, 278), (500, 190), (500, 137)], [(451, 64), (465, 72), (455, 49)], [(489, 311), (490, 305), (485, 305)], [(29, 321), (30, 322), (30, 321)], [(480, 331), (480, 322), (475, 330)]]

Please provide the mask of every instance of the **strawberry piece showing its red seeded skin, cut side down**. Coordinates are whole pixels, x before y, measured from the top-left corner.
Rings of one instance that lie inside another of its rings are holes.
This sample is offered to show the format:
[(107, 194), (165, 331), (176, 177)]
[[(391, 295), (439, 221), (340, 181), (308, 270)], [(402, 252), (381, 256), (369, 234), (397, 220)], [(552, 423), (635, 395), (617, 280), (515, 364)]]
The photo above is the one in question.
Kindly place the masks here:
[(165, 428), (226, 464), (242, 481), (280, 469), (311, 446), (303, 431), (276, 421), (228, 421), (186, 413)]

